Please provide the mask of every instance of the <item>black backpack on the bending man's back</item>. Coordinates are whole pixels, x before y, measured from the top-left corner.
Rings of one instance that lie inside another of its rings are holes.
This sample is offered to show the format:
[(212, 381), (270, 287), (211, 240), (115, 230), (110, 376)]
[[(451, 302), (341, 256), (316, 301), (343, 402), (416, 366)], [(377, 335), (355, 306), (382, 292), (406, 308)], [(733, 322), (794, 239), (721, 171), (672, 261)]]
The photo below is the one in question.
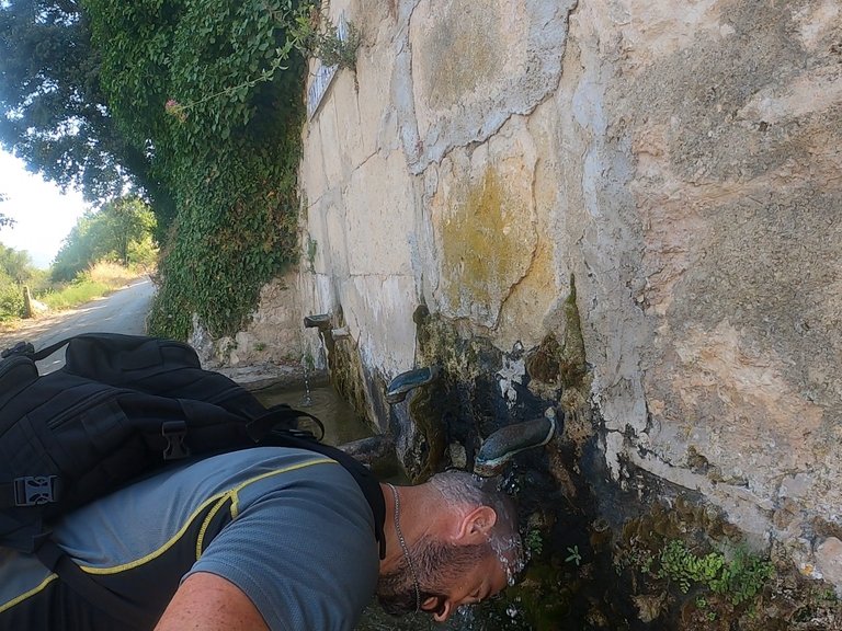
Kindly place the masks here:
[[(38, 375), (35, 362), (64, 346), (64, 367)], [(265, 445), (310, 449), (345, 467), (372, 506), (383, 552), (385, 505), (368, 469), (298, 431), (310, 414), (266, 409), (204, 370), (187, 344), (86, 333), (38, 352), (19, 344), (3, 356), (0, 546), (36, 553), (59, 576), (67, 562), (49, 541), (49, 524), (60, 515), (168, 462)]]

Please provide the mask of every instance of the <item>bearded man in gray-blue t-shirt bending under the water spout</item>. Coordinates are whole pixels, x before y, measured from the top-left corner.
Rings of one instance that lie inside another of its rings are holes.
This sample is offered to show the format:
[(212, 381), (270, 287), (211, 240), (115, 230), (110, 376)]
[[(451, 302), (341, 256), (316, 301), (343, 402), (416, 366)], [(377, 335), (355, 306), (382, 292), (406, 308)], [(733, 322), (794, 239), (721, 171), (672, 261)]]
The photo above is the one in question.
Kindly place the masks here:
[(320, 454), (264, 447), (156, 473), (54, 530), (115, 607), (0, 551), (0, 630), (351, 630), (375, 593), (446, 620), (520, 569), (514, 512), (473, 475), (380, 490), (382, 558), (360, 485)]

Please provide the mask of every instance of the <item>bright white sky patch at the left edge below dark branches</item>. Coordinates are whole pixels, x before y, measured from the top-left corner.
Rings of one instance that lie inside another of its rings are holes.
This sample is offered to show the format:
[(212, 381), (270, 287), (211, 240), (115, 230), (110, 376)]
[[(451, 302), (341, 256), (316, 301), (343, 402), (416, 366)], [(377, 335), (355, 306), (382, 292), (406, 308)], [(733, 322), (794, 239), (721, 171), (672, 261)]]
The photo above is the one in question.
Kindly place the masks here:
[(62, 194), (55, 184), (30, 173), (23, 162), (0, 150), (0, 214), (16, 223), (0, 228), (0, 243), (25, 250), (36, 267), (47, 268), (61, 248), (61, 241), (89, 208), (78, 191)]

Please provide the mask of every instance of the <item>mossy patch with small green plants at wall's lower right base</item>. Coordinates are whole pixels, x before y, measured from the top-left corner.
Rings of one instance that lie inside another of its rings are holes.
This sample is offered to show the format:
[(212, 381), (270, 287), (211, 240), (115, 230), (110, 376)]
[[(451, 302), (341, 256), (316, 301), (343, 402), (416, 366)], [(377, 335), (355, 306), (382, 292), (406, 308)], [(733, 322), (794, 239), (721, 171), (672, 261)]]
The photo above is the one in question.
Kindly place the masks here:
[[(614, 566), (633, 601), (664, 604), (659, 628), (812, 631), (842, 628), (832, 589), (790, 563), (751, 553), (710, 506), (687, 496), (655, 504), (618, 534)], [(644, 612), (640, 610), (640, 615)]]

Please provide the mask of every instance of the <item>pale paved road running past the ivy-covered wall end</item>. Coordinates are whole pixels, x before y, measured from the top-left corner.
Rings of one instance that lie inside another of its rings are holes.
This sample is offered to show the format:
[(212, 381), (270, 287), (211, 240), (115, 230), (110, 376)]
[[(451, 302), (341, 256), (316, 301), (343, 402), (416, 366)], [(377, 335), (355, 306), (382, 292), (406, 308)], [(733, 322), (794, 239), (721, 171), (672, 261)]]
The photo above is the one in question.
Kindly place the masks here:
[[(144, 334), (149, 302), (155, 295), (155, 285), (148, 278), (135, 280), (126, 288), (105, 298), (99, 298), (77, 309), (62, 311), (24, 322), (13, 332), (0, 334), (0, 347), (15, 342), (31, 342), (35, 348), (43, 348), (78, 333), (101, 331), (106, 333)], [(42, 372), (48, 372), (64, 363), (64, 351), (38, 362)]]

